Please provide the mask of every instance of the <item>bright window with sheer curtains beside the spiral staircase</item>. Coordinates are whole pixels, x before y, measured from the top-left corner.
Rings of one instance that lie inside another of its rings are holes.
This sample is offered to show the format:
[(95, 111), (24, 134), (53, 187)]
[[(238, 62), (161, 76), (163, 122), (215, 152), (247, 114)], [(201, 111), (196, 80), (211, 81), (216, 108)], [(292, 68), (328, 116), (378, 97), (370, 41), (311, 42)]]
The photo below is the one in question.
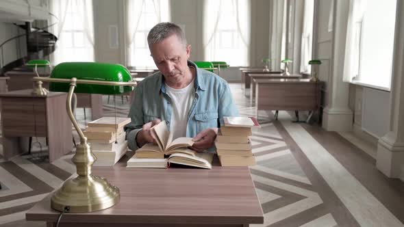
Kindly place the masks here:
[(53, 0), (53, 34), (58, 37), (53, 64), (94, 61), (92, 0)]

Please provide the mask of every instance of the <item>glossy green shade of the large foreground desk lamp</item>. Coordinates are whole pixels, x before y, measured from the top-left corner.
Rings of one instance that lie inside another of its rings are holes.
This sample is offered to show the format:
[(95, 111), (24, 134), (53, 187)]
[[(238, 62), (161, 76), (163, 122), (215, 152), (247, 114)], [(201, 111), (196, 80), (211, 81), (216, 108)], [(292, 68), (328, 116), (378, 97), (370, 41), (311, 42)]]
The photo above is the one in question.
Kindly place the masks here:
[[(53, 68), (51, 78), (110, 82), (130, 82), (131, 74), (120, 64), (106, 64), (97, 62), (64, 62)], [(69, 83), (49, 83), (51, 92), (68, 92)], [(77, 83), (75, 93), (88, 94), (123, 94), (133, 90), (131, 86), (94, 85)]]

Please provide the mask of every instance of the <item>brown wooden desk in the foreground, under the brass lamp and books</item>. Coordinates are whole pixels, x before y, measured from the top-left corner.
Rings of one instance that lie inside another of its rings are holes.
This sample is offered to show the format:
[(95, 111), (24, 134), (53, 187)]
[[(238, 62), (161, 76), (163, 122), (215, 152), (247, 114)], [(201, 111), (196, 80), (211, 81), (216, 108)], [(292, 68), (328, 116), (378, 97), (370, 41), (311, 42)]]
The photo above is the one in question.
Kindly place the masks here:
[[(264, 223), (249, 168), (216, 167), (137, 169), (95, 167), (121, 190), (121, 201), (110, 209), (63, 215), (60, 226), (249, 226)], [(27, 214), (28, 221), (55, 226), (59, 213), (51, 209), (51, 194)]]

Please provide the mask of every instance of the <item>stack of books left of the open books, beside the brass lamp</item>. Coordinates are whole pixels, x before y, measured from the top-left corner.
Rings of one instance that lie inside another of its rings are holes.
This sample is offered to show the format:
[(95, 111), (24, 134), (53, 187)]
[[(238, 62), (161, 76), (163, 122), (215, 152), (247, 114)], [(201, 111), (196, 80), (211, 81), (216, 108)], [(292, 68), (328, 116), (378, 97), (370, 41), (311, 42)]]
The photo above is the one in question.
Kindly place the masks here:
[(84, 131), (97, 157), (95, 166), (112, 166), (127, 152), (127, 141), (123, 126), (130, 118), (103, 117), (89, 122)]

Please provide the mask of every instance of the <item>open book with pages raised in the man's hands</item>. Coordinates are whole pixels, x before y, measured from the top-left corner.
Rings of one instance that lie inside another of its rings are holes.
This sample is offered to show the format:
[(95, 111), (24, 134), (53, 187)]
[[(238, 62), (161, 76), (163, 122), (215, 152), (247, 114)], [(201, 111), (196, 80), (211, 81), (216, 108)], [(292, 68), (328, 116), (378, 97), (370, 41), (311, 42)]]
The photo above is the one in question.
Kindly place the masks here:
[[(190, 155), (190, 153), (186, 151), (190, 149), (184, 149), (184, 148), (187, 148), (188, 146), (192, 146), (192, 144), (194, 144), (192, 138), (179, 137), (173, 140), (173, 133), (168, 131), (168, 127), (165, 121), (162, 121), (159, 124), (156, 124), (155, 126), (151, 127), (150, 131), (151, 135), (157, 142), (157, 145), (144, 144), (142, 148), (136, 150), (136, 154), (141, 155), (142, 158), (147, 158), (144, 157), (143, 155), (147, 155), (147, 153), (151, 152), (157, 152), (154, 155), (149, 154), (152, 156), (149, 158), (155, 158), (155, 159), (162, 158), (164, 157), (164, 155), (171, 155), (173, 154), (173, 152), (181, 152)], [(160, 153), (160, 155), (158, 153)]]

